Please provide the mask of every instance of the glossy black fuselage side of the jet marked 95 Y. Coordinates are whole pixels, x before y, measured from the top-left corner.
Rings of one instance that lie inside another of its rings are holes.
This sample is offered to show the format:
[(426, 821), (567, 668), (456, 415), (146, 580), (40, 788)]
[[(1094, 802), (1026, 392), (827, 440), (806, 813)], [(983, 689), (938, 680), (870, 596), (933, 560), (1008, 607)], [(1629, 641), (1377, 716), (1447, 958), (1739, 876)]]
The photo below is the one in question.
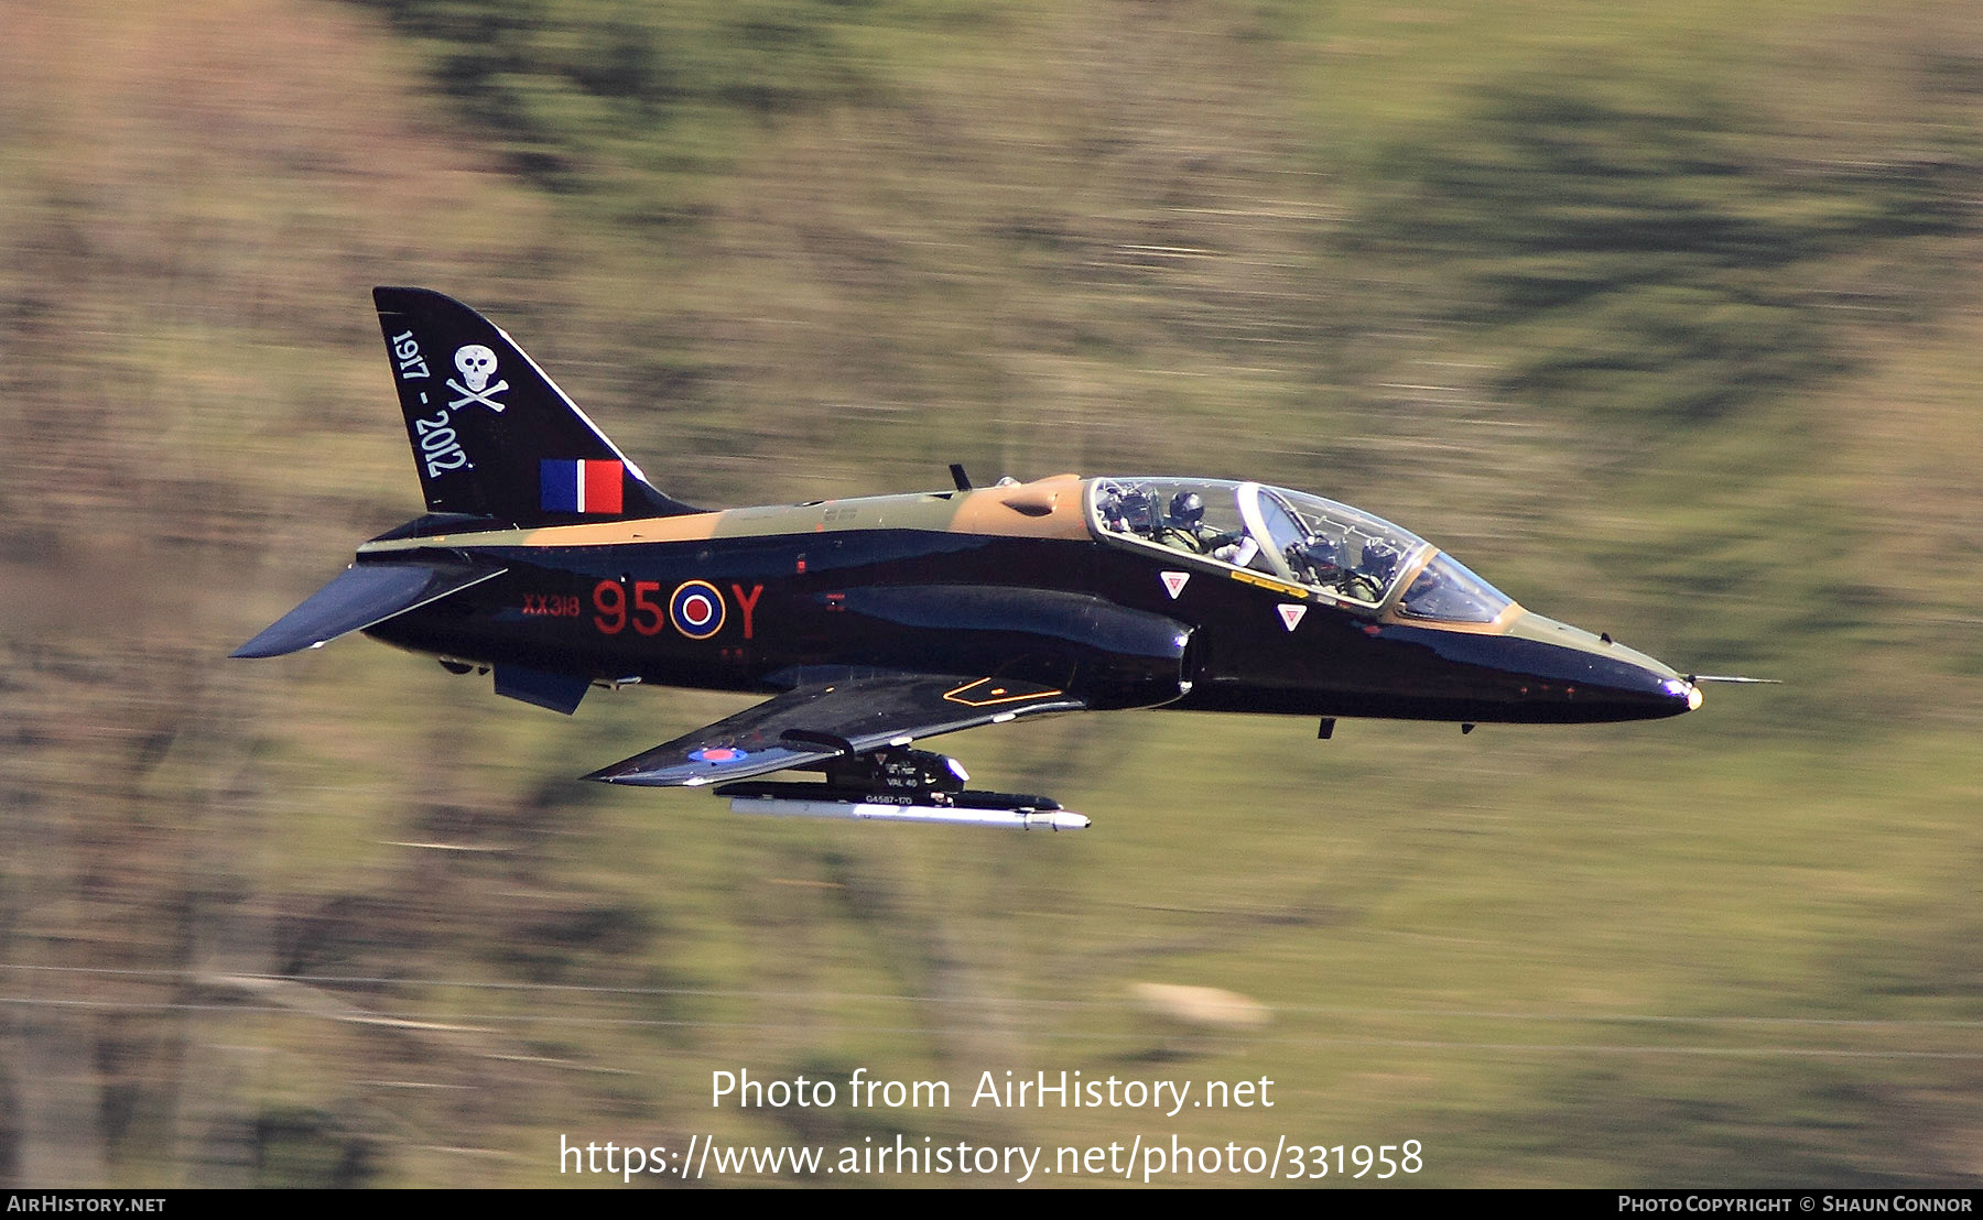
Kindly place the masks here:
[[(410, 539), (408, 539), (410, 541)], [(1676, 673), (1533, 614), (1456, 630), (1311, 602), (1198, 557), (1095, 539), (841, 529), (472, 545), (502, 576), (371, 634), (597, 681), (775, 691), (799, 671), (986, 673), (1091, 707), (1584, 723), (1688, 711)], [(1192, 578), (1170, 596), (1162, 572)], [(1555, 638), (1553, 638), (1555, 636)]]

